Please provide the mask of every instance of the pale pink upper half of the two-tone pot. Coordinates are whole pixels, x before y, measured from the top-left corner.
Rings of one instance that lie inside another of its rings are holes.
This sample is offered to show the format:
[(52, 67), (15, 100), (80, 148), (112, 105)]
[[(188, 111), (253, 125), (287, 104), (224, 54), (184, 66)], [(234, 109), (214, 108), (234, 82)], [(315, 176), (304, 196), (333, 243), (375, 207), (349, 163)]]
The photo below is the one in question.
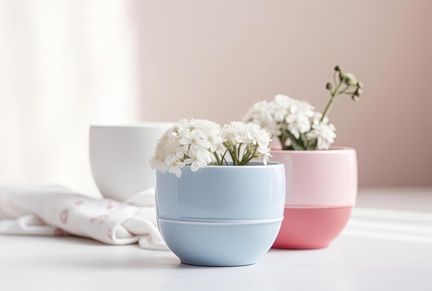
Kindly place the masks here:
[(349, 207), (357, 196), (357, 154), (353, 148), (271, 150), (285, 165), (286, 206)]

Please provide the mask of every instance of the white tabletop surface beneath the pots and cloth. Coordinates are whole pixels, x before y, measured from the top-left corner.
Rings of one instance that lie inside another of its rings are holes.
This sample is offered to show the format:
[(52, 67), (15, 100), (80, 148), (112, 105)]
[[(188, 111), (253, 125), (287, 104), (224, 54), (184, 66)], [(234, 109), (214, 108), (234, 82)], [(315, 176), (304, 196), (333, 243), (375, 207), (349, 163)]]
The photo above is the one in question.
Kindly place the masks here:
[(362, 189), (322, 250), (270, 250), (236, 268), (77, 237), (0, 236), (0, 290), (432, 290), (432, 189)]

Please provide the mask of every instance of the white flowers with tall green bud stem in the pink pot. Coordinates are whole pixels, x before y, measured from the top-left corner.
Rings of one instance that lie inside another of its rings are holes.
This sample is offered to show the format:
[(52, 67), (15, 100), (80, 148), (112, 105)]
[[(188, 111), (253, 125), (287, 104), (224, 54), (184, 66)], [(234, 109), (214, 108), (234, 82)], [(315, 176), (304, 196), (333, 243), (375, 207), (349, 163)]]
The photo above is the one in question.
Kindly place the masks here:
[(333, 83), (326, 83), (330, 99), (323, 112), (306, 101), (278, 94), (273, 101), (260, 101), (244, 116), (243, 121), (255, 123), (277, 136), (283, 150), (328, 150), (335, 141), (335, 126), (328, 122), (328, 113), (338, 96), (348, 95), (354, 101), (363, 92), (363, 83), (353, 74), (336, 66)]

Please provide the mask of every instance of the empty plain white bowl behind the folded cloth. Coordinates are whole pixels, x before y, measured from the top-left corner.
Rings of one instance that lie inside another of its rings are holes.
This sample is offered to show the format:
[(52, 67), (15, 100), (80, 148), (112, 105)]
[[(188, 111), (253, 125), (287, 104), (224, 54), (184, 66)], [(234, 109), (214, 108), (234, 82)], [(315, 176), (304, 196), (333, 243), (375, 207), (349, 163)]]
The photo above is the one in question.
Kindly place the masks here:
[(90, 165), (104, 197), (126, 201), (155, 186), (149, 159), (157, 139), (171, 126), (169, 122), (90, 126)]

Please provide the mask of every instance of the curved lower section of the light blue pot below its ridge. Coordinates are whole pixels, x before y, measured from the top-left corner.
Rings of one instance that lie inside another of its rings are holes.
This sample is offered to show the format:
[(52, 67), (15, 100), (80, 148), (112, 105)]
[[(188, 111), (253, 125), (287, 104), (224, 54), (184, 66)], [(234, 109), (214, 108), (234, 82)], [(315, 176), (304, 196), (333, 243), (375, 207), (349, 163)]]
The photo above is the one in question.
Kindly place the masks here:
[(181, 263), (234, 267), (257, 263), (275, 241), (281, 221), (271, 223), (179, 223), (159, 219), (159, 231)]

